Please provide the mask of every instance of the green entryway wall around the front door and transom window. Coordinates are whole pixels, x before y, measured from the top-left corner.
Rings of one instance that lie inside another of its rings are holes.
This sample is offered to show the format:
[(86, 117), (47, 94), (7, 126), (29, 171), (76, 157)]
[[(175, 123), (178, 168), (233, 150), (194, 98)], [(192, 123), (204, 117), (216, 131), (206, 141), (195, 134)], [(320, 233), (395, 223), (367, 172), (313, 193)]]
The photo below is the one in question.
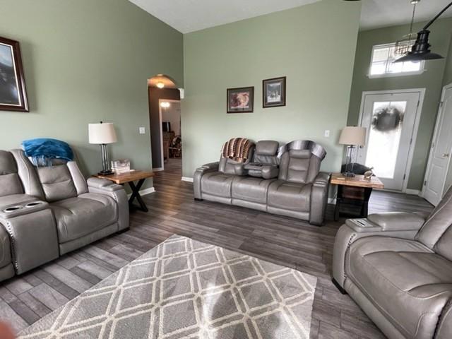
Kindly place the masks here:
[[(420, 30), (425, 23), (415, 24), (415, 31)], [(367, 30), (359, 32), (353, 73), (352, 95), (350, 97), (350, 112), (348, 124), (356, 125), (359, 118), (359, 107), (363, 91), (369, 90), (400, 90), (406, 88), (426, 88), (420, 127), (415, 141), (415, 153), (412, 160), (408, 189), (422, 189), (424, 172), (429, 156), (430, 141), (434, 130), (438, 102), (441, 96), (442, 79), (446, 66), (445, 60), (427, 61), (426, 72), (417, 76), (398, 76), (387, 78), (369, 78), (369, 64), (372, 46), (396, 42), (410, 30), (409, 25), (399, 25), (390, 28)], [(443, 56), (448, 54), (451, 42), (452, 18), (436, 21), (430, 30), (432, 50)]]

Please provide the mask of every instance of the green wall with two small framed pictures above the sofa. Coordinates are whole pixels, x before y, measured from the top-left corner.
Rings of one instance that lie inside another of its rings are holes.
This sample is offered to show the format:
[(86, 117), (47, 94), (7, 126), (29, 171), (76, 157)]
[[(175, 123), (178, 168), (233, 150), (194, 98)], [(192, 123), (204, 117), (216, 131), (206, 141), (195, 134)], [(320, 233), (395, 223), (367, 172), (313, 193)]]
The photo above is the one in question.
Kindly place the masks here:
[[(184, 35), (184, 177), (234, 136), (317, 141), (328, 151), (323, 170), (340, 170), (359, 13), (359, 3), (324, 0)], [(287, 106), (263, 109), (262, 80), (278, 76)], [(227, 114), (226, 89), (245, 86), (255, 86), (254, 113)]]

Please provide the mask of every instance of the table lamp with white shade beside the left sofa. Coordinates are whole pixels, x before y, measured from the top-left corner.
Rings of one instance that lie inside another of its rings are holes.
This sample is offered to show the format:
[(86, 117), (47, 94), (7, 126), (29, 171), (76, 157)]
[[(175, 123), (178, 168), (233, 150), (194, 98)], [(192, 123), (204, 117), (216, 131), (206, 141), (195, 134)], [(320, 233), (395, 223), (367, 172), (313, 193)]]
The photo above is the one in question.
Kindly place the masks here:
[(88, 139), (89, 143), (100, 145), (100, 150), (102, 152), (102, 171), (98, 174), (100, 175), (111, 175), (113, 174), (110, 167), (110, 161), (108, 156), (107, 145), (109, 143), (116, 143), (117, 136), (114, 131), (114, 126), (111, 122), (102, 122), (100, 124), (88, 124)]

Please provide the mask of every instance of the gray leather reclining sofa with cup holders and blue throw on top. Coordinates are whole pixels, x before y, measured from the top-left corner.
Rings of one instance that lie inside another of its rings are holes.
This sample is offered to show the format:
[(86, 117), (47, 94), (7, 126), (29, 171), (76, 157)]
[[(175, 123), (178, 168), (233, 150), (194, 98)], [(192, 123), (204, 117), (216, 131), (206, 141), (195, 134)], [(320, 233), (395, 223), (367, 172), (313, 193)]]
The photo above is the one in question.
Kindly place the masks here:
[(85, 180), (76, 162), (35, 167), (0, 150), (0, 280), (128, 227), (122, 186)]

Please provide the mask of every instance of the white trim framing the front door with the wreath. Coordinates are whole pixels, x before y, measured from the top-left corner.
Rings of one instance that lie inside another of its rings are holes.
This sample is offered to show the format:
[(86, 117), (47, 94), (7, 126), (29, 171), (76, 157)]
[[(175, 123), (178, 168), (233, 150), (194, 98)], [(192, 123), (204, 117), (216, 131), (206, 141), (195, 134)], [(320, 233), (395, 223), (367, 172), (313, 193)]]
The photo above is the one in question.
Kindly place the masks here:
[(417, 105), (416, 117), (415, 117), (415, 125), (413, 126), (412, 131), (412, 142), (410, 145), (410, 150), (408, 151), (408, 162), (407, 167), (405, 169), (405, 180), (403, 180), (402, 192), (406, 193), (408, 186), (408, 179), (410, 179), (411, 165), (412, 165), (412, 157), (415, 153), (415, 145), (417, 140), (417, 131), (419, 130), (419, 123), (421, 120), (422, 107), (424, 105), (424, 96), (425, 96), (425, 88), (409, 88), (406, 90), (369, 90), (364, 91), (361, 97), (361, 107), (359, 108), (359, 119), (358, 126), (361, 126), (362, 116), (364, 114), (364, 100), (366, 95), (384, 95), (384, 94), (399, 94), (399, 93), (419, 93), (419, 104)]

